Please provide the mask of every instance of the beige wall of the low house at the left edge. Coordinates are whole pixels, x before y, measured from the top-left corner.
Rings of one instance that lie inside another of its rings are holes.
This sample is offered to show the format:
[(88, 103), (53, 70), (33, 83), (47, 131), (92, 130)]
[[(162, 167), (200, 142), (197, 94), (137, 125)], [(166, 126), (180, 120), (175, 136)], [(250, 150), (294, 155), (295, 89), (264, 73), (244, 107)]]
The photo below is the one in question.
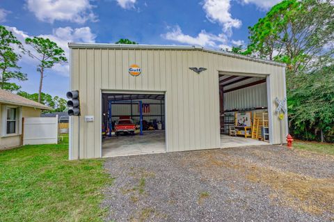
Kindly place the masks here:
[[(0, 113), (2, 113), (4, 104), (0, 104)], [(13, 105), (10, 105), (13, 106)], [(24, 117), (39, 117), (40, 116), (40, 109), (35, 109), (32, 107), (26, 106), (18, 106), (21, 107), (20, 111), (22, 112), (22, 118)], [(0, 126), (2, 126), (2, 115), (0, 115)], [(19, 127), (22, 127), (22, 120), (19, 120)], [(2, 129), (2, 127), (1, 127)], [(17, 147), (21, 144), (21, 136), (22, 134), (18, 133), (15, 136), (0, 136), (0, 150), (4, 148), (13, 148)]]

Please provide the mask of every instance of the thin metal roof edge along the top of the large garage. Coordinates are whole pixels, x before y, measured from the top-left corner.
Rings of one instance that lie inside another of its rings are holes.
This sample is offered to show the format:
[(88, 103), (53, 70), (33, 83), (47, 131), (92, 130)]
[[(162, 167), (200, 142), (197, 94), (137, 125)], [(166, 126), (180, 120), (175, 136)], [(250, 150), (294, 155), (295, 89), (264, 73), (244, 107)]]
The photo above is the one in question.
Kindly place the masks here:
[(174, 50), (198, 50), (206, 51), (214, 54), (221, 54), (224, 56), (230, 56), (234, 58), (241, 58), (248, 61), (254, 61), (258, 63), (266, 63), (269, 65), (278, 65), (285, 67), (285, 63), (278, 63), (276, 61), (269, 61), (262, 58), (254, 58), (250, 56), (244, 56), (240, 54), (234, 54), (228, 51), (219, 51), (214, 49), (205, 49), (204, 47), (199, 46), (190, 46), (190, 45), (129, 45), (129, 44), (107, 44), (107, 43), (75, 43), (69, 42), (68, 47), (72, 48), (98, 48), (98, 49), (174, 49)]

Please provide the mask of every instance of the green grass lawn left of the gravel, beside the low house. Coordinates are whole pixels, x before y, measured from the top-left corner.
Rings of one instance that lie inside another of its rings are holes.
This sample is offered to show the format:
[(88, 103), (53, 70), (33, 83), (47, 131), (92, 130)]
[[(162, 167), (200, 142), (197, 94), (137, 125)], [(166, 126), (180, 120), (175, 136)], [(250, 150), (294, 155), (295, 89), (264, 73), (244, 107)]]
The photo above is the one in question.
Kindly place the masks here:
[(104, 160), (67, 159), (68, 136), (0, 151), (0, 221), (101, 221)]

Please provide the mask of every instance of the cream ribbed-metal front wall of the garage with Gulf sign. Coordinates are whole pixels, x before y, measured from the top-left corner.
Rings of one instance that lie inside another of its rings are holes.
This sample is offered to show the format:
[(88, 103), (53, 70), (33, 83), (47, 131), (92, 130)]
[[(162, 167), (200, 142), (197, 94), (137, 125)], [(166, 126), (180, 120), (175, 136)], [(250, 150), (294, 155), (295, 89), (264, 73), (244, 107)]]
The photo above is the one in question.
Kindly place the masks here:
[[(129, 65), (142, 68), (138, 77)], [(207, 68), (197, 74), (189, 67)], [(269, 113), (274, 99), (285, 95), (285, 68), (225, 54), (190, 49), (127, 49), (75, 47), (71, 49), (71, 89), (79, 90), (81, 118), (72, 117), (70, 158), (101, 157), (101, 90), (164, 92), (168, 152), (220, 147), (218, 72), (260, 74), (267, 77)], [(85, 122), (84, 116), (95, 116)], [(80, 127), (78, 120), (80, 119)], [(272, 143), (280, 143), (279, 120), (272, 118)], [(287, 134), (283, 122), (283, 134)]]

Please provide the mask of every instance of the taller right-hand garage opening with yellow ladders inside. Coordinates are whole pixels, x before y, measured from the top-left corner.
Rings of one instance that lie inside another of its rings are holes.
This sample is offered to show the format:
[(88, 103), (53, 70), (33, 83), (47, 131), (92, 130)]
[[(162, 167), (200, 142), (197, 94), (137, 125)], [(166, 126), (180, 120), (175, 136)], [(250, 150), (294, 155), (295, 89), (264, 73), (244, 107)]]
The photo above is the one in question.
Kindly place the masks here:
[(265, 77), (219, 75), (221, 148), (269, 142)]

